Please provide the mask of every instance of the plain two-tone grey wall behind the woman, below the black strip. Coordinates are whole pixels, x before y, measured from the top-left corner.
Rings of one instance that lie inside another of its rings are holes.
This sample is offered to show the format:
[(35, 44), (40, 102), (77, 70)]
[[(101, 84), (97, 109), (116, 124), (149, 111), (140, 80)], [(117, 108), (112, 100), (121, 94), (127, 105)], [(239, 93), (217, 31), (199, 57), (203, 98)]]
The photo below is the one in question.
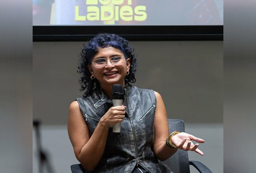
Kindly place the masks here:
[[(84, 42), (33, 42), (33, 119), (42, 122), (42, 144), (56, 172), (76, 164), (67, 135), (69, 104), (83, 93), (76, 73)], [(205, 139), (205, 156), (189, 152), (213, 172), (223, 171), (223, 42), (130, 42), (137, 54), (135, 83), (158, 91), (168, 118)], [(35, 140), (35, 134), (33, 135)], [(38, 172), (33, 143), (33, 172)], [(213, 162), (214, 160), (214, 162)], [(197, 172), (197, 171), (195, 171)]]

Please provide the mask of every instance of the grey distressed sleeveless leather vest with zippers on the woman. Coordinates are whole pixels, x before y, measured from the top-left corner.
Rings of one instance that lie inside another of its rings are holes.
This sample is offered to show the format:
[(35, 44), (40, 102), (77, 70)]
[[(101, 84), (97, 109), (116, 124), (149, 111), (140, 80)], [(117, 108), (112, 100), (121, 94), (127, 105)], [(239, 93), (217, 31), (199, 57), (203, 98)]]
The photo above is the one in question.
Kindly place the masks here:
[[(92, 136), (101, 117), (113, 106), (102, 90), (94, 90), (88, 97), (76, 99)], [(123, 105), (126, 115), (121, 122), (121, 133), (109, 127), (104, 154), (93, 172), (131, 173), (140, 165), (150, 173), (169, 173), (153, 152), (154, 112), (156, 97), (153, 90), (126, 85)]]

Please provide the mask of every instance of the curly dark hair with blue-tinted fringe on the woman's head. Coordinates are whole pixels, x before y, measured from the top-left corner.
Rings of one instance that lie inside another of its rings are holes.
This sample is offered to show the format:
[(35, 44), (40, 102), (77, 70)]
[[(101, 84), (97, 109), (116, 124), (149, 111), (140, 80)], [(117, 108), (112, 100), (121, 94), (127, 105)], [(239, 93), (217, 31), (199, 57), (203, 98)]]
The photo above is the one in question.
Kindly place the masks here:
[(88, 64), (92, 63), (92, 58), (97, 54), (98, 48), (114, 47), (119, 49), (125, 56), (130, 58), (130, 70), (129, 75), (125, 77), (125, 84), (135, 83), (135, 72), (136, 72), (136, 57), (133, 47), (130, 46), (129, 42), (123, 37), (116, 34), (100, 33), (89, 40), (87, 44), (83, 44), (83, 50), (81, 51), (81, 57), (78, 62), (77, 72), (81, 75), (79, 83), (81, 85), (80, 91), (85, 91), (83, 96), (92, 94), (93, 89), (100, 88), (100, 82), (95, 79), (90, 79), (90, 71), (87, 67)]

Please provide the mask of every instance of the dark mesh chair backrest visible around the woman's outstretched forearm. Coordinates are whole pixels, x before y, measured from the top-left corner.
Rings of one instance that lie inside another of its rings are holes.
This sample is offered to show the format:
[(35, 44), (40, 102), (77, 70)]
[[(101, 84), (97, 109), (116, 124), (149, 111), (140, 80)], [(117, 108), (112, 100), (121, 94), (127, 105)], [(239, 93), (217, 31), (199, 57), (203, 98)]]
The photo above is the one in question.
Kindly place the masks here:
[[(173, 131), (185, 132), (182, 119), (168, 119), (169, 133)], [(187, 151), (178, 149), (169, 159), (163, 161), (174, 173), (190, 173)]]

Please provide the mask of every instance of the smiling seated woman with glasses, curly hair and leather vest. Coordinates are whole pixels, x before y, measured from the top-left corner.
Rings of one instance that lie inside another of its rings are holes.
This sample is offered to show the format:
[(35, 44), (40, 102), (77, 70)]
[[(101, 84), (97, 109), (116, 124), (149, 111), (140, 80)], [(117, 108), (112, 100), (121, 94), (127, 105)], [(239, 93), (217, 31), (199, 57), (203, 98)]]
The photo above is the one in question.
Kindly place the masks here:
[[(139, 89), (135, 82), (136, 58), (128, 41), (115, 34), (99, 34), (81, 53), (78, 72), (85, 94), (69, 108), (68, 132), (82, 166), (95, 172), (170, 172), (161, 161), (177, 149), (195, 151), (204, 140), (187, 133), (169, 135), (161, 95)], [(113, 84), (125, 88), (122, 106), (113, 107)], [(112, 126), (121, 122), (121, 133)], [(161, 161), (160, 161), (161, 160)]]

